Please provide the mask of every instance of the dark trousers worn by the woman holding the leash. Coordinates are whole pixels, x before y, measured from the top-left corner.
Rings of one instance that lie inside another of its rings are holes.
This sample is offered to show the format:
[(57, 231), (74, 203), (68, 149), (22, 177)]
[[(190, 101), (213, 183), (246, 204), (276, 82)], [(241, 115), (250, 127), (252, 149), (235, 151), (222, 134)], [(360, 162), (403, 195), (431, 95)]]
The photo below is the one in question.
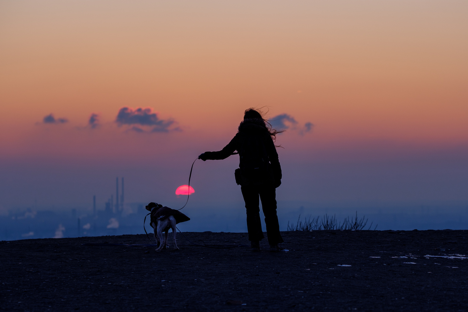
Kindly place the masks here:
[(276, 189), (272, 186), (242, 186), (245, 208), (247, 210), (247, 230), (250, 241), (259, 241), (264, 238), (262, 223), (260, 222), (260, 207), (258, 196), (262, 200), (263, 215), (265, 216), (268, 243), (275, 245), (282, 243), (279, 233), (278, 216), (276, 215)]

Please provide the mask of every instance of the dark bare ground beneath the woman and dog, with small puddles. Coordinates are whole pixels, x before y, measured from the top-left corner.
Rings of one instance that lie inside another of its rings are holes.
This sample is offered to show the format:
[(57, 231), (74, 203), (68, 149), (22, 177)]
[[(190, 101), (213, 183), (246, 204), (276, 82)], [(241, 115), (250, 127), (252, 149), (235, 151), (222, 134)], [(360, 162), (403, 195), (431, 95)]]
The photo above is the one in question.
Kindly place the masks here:
[[(245, 233), (185, 235), (249, 243)], [(279, 253), (266, 239), (253, 253), (188, 246), (180, 234), (181, 250), (159, 253), (82, 245), (145, 235), (1, 241), (0, 311), (468, 311), (468, 259), (426, 256), (466, 258), (468, 231), (282, 235), (289, 251)]]

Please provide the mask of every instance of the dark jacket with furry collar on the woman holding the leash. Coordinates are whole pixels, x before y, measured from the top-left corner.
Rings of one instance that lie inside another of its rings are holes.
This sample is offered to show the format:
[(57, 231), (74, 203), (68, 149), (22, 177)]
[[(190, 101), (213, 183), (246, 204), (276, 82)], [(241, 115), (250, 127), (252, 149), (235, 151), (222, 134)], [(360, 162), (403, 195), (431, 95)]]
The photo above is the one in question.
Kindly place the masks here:
[[(241, 184), (272, 185), (281, 184), (281, 166), (278, 152), (262, 119), (246, 119), (239, 125), (235, 137), (218, 152), (205, 152), (204, 158), (221, 160), (234, 151), (239, 152)], [(236, 179), (237, 180), (237, 179)]]

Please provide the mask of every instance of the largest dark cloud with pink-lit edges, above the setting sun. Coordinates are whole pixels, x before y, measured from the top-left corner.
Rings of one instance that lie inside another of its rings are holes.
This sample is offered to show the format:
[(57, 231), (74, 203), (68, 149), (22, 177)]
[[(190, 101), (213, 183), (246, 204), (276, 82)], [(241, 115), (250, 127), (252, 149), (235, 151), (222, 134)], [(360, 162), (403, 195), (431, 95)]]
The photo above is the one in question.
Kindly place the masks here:
[(128, 125), (139, 125), (148, 128), (144, 130), (141, 127), (133, 126), (130, 128), (131, 131), (136, 132), (169, 132), (169, 131), (181, 131), (179, 127), (172, 128), (171, 126), (176, 124), (173, 119), (160, 119), (158, 113), (153, 112), (153, 109), (137, 108), (132, 109), (129, 107), (123, 107), (118, 111), (116, 123), (119, 126), (124, 124)]

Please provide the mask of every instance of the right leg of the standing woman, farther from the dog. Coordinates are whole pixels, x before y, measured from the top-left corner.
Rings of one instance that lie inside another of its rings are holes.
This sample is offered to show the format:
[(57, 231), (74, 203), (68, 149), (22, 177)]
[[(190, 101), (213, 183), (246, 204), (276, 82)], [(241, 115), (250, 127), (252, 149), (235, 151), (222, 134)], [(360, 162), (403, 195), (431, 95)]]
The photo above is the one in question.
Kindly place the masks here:
[(278, 216), (276, 214), (276, 189), (272, 186), (261, 187), (259, 188), (259, 194), (262, 200), (263, 214), (265, 215), (268, 243), (270, 245), (283, 243), (284, 240), (279, 233)]

